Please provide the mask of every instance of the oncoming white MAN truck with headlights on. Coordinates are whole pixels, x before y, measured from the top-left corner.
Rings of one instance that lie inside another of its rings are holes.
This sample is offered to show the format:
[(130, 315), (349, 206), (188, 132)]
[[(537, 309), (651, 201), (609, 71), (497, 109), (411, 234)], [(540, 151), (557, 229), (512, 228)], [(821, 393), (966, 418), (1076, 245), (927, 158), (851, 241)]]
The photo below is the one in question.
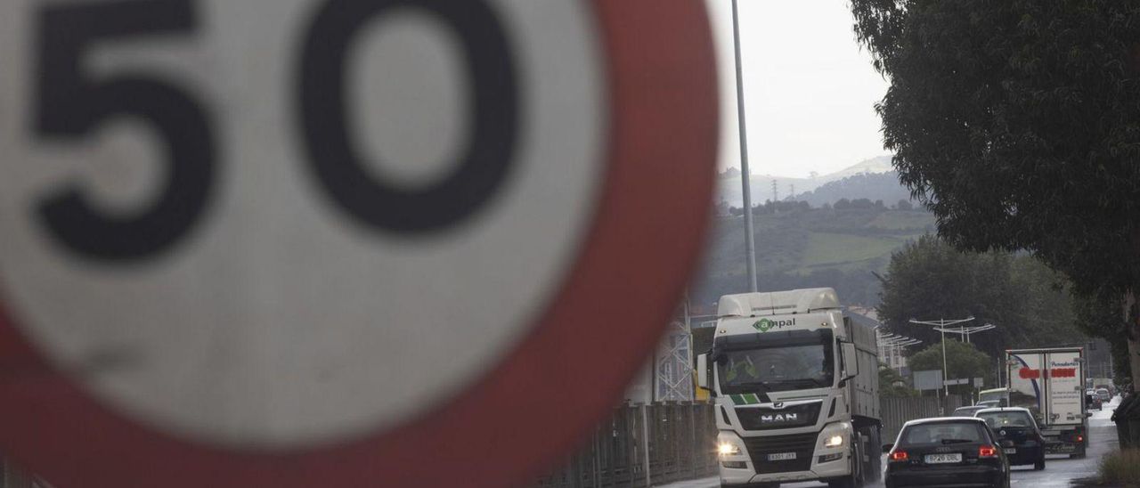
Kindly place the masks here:
[(720, 298), (698, 381), (716, 404), (722, 486), (878, 479), (874, 330), (831, 288)]

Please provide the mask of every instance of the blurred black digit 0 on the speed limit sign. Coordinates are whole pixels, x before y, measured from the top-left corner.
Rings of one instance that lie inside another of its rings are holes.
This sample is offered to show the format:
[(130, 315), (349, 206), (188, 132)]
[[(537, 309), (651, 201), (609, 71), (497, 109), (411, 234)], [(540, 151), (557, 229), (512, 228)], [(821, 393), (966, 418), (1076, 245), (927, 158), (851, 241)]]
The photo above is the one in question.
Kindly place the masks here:
[[(345, 54), (368, 22), (399, 9), (437, 16), (462, 41), (471, 89), (472, 133), (458, 168), (426, 188), (377, 180), (349, 143)], [(309, 27), (299, 76), (300, 123), (317, 179), (358, 221), (402, 234), (440, 230), (487, 203), (512, 165), (518, 90), (507, 39), (484, 0), (331, 0)]]

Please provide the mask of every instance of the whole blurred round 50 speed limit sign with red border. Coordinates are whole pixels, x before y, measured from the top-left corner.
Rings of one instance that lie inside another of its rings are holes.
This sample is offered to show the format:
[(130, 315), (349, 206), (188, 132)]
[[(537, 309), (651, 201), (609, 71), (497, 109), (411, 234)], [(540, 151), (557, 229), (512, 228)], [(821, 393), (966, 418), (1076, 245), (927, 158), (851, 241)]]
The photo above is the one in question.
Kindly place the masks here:
[(67, 486), (500, 486), (700, 250), (700, 0), (0, 2), (0, 453)]

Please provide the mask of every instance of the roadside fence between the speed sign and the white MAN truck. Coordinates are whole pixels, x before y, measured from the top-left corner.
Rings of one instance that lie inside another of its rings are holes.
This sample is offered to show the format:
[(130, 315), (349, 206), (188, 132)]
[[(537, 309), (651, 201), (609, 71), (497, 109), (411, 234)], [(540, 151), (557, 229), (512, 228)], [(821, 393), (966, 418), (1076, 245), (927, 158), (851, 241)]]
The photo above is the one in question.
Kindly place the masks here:
[(712, 405), (625, 406), (594, 430), (591, 441), (543, 488), (645, 487), (716, 473)]

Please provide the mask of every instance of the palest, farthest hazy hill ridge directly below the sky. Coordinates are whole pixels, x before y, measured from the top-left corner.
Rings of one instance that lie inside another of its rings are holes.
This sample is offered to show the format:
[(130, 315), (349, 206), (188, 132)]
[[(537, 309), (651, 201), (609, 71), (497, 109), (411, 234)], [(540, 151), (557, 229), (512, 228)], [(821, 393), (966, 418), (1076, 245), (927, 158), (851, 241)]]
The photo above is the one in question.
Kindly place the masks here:
[[(757, 205), (768, 200), (775, 200), (773, 198), (773, 196), (777, 196), (779, 200), (781, 201), (787, 200), (788, 197), (792, 197), (796, 200), (804, 200), (804, 198), (798, 198), (793, 195), (803, 195), (806, 193), (811, 193), (830, 182), (839, 181), (845, 178), (849, 178), (857, 174), (879, 174), (879, 173), (890, 172), (894, 170), (894, 168), (890, 165), (890, 157), (891, 156), (872, 157), (870, 160), (861, 161), (857, 164), (854, 164), (840, 171), (836, 171), (833, 173), (828, 173), (828, 174), (820, 174), (814, 178), (785, 178), (771, 174), (754, 174), (751, 178), (749, 178), (749, 185), (752, 194), (752, 204)], [(776, 182), (777, 195), (773, 195), (772, 181)], [(728, 205), (736, 208), (744, 206), (742, 188), (741, 188), (740, 170), (730, 168), (728, 170), (722, 172), (717, 184), (718, 184), (717, 192), (719, 197), (723, 198)], [(897, 181), (896, 186), (898, 186)], [(792, 189), (795, 189), (795, 194), (792, 193)], [(864, 197), (870, 198), (870, 196), (857, 196), (857, 198), (864, 198)], [(848, 198), (850, 197), (848, 196)], [(885, 197), (876, 197), (871, 200), (872, 201), (882, 200), (885, 203), (887, 202)], [(897, 200), (898, 198), (894, 198), (894, 201)]]

